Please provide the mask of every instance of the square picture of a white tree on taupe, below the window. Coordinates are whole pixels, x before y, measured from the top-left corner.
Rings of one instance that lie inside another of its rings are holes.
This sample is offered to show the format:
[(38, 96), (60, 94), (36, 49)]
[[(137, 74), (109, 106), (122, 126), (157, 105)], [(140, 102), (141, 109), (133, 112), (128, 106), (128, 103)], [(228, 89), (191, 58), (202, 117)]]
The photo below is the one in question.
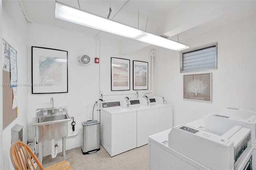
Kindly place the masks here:
[(212, 102), (212, 73), (183, 75), (183, 99)]

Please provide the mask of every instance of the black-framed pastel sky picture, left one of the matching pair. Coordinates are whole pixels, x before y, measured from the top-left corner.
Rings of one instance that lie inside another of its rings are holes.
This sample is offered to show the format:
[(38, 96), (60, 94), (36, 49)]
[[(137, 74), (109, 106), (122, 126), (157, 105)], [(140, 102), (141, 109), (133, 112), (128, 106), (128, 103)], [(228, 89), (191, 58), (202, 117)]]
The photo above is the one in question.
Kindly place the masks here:
[(111, 57), (111, 91), (130, 90), (130, 59)]

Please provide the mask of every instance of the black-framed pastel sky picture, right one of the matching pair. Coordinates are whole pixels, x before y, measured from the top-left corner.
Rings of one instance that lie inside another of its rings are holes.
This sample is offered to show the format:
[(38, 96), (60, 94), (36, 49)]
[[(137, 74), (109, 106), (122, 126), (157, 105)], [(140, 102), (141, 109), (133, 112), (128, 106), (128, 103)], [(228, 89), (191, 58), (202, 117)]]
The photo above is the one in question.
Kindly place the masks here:
[(133, 90), (148, 90), (148, 62), (136, 61), (133, 65)]

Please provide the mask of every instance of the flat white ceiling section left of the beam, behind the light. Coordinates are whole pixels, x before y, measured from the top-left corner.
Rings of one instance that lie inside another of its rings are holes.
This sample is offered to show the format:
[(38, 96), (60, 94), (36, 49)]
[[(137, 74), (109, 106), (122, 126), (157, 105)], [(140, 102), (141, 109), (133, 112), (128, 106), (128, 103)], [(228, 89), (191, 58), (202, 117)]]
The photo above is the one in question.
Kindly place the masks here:
[[(59, 2), (79, 8), (78, 0), (59, 0)], [(155, 20), (182, 1), (129, 0), (126, 2), (127, 0), (79, 0), (82, 10), (102, 17), (108, 16), (111, 6), (112, 12), (110, 19), (135, 28), (138, 28), (138, 12), (140, 12), (139, 28), (142, 30), (145, 30), (148, 17), (149, 21)], [(92, 28), (56, 19), (55, 0), (21, 0), (21, 4), (30, 22), (70, 29), (89, 35), (96, 35), (99, 32)], [(122, 6), (124, 7), (122, 8)], [(120, 11), (118, 12), (118, 10)]]

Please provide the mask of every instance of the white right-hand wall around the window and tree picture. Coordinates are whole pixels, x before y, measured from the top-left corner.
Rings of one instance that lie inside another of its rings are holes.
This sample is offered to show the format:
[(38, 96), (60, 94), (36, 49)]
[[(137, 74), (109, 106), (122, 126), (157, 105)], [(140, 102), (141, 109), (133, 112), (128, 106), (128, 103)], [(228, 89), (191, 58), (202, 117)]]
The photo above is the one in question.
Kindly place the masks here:
[(166, 102), (174, 105), (174, 125), (194, 121), (224, 107), (255, 109), (255, 20), (255, 16), (249, 16), (180, 40), (190, 47), (218, 42), (218, 70), (200, 72), (212, 72), (211, 103), (184, 100), (179, 52), (156, 49), (154, 93), (165, 96)]

